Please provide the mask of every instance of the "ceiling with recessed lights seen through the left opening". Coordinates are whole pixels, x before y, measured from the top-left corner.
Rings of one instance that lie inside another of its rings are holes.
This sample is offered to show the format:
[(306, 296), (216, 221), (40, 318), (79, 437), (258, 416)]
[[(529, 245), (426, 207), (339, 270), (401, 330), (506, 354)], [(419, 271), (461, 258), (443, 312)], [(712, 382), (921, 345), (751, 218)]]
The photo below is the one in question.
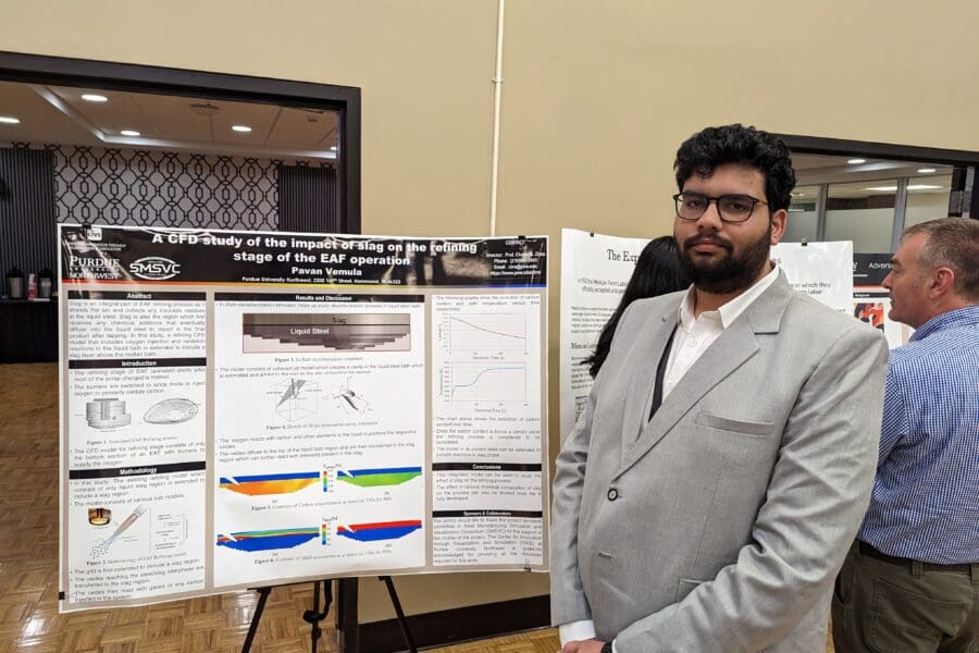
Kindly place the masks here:
[[(85, 94), (104, 96), (89, 102)], [(335, 159), (337, 113), (275, 104), (0, 82), (0, 141)], [(240, 133), (233, 125), (247, 125)], [(123, 136), (123, 130), (139, 136)]]

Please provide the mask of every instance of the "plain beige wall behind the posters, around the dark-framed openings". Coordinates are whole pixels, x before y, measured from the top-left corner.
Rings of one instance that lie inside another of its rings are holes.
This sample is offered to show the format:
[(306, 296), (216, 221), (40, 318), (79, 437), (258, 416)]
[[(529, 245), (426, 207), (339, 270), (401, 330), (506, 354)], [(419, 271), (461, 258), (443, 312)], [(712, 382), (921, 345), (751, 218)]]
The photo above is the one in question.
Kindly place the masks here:
[[(7, 0), (0, 49), (359, 86), (364, 233), (476, 235), (496, 7)], [(511, 0), (497, 233), (549, 234), (555, 250), (562, 226), (667, 233), (672, 156), (706, 124), (979, 151), (976, 25), (975, 0)], [(409, 613), (546, 592), (516, 574), (397, 582)], [(363, 620), (393, 616), (380, 582), (361, 586)]]

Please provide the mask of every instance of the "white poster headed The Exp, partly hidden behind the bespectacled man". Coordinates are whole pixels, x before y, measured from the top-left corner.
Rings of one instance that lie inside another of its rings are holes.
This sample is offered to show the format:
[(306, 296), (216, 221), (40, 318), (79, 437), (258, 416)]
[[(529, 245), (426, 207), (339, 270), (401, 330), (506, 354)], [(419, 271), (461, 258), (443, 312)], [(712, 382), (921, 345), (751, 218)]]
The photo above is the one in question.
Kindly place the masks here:
[[(615, 312), (647, 238), (561, 230), (560, 422), (567, 436), (584, 409), (592, 377), (582, 361)], [(780, 243), (771, 258), (789, 283), (841, 312), (853, 311), (853, 243)]]

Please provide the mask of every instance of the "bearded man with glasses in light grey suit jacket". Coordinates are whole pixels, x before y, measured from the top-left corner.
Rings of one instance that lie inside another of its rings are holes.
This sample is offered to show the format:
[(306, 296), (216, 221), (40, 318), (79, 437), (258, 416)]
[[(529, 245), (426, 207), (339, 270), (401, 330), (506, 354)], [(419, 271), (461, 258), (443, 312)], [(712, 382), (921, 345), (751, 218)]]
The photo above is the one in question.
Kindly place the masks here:
[(710, 127), (674, 163), (693, 286), (633, 303), (557, 458), (565, 653), (821, 652), (869, 501), (887, 344), (769, 260), (789, 149)]

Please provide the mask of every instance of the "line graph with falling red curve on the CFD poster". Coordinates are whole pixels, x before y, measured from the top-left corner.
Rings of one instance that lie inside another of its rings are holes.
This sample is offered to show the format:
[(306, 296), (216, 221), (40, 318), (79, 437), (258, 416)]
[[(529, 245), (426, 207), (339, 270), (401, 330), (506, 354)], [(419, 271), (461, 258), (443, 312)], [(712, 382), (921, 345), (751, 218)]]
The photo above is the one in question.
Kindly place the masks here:
[(526, 352), (526, 316), (523, 313), (446, 315), (442, 338), (450, 353)]

